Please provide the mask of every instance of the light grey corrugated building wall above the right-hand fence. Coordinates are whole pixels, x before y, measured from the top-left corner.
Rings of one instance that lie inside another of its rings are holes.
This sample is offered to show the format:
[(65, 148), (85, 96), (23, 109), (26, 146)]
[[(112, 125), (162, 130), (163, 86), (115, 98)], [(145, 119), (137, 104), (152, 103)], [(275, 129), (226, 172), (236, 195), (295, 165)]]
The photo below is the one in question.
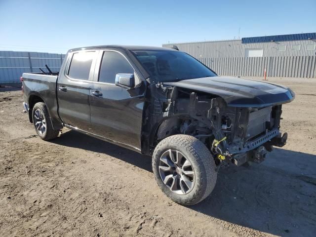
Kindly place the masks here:
[[(300, 50), (292, 50), (292, 45), (301, 45)], [(316, 49), (307, 50), (307, 44), (316, 44), (314, 40), (295, 40), (282, 42), (241, 43), (241, 40), (222, 40), (189, 43), (162, 44), (171, 48), (176, 45), (179, 50), (189, 53), (195, 58), (228, 58), (245, 57), (245, 49), (262, 48), (264, 57), (276, 56), (314, 56)], [(279, 45), (286, 45), (285, 51), (279, 51)]]

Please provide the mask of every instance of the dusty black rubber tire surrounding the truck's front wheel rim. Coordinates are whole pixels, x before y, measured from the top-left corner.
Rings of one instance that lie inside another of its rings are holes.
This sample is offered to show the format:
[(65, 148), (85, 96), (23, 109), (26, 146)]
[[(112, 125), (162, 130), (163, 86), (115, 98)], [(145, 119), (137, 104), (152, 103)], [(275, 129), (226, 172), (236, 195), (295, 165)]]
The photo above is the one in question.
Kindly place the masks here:
[[(192, 164), (195, 172), (195, 184), (187, 194), (175, 194), (162, 181), (159, 173), (160, 157), (169, 149), (179, 151)], [(158, 186), (167, 197), (181, 205), (197, 204), (210, 195), (216, 184), (215, 167), (214, 159), (206, 146), (197, 138), (189, 135), (173, 135), (163, 139), (153, 154), (153, 171)]]

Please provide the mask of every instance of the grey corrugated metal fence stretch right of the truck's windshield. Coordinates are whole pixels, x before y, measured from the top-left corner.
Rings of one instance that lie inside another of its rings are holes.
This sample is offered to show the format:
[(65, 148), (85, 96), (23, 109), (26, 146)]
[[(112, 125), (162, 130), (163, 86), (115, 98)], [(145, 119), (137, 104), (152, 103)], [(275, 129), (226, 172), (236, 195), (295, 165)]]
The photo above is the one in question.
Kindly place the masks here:
[(221, 76), (316, 78), (316, 56), (199, 58)]

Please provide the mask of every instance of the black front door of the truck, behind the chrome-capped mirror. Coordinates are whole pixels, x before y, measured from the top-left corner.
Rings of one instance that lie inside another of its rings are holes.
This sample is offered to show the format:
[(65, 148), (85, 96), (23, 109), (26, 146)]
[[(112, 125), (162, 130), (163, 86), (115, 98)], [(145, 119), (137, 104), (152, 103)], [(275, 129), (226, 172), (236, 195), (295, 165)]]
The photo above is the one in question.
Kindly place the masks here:
[[(145, 84), (121, 52), (100, 51), (90, 89), (93, 133), (134, 150), (141, 149)], [(135, 87), (115, 85), (118, 73), (132, 73)]]

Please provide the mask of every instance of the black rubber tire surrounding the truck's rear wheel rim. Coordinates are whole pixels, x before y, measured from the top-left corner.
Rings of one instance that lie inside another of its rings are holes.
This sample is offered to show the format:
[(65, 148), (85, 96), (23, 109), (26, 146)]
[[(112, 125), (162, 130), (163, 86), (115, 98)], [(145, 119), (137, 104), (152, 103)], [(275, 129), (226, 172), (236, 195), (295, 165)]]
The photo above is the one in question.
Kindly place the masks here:
[[(40, 110), (41, 114), (45, 118), (46, 129), (43, 133), (41, 133), (36, 126), (35, 112), (37, 110)], [(53, 127), (52, 127), (52, 124), (50, 121), (50, 117), (48, 114), (48, 110), (47, 110), (45, 103), (38, 102), (34, 105), (33, 111), (32, 111), (32, 119), (33, 119), (33, 124), (34, 124), (35, 130), (42, 140), (47, 141), (47, 140), (55, 139), (56, 137), (58, 137), (59, 130), (53, 130)]]

